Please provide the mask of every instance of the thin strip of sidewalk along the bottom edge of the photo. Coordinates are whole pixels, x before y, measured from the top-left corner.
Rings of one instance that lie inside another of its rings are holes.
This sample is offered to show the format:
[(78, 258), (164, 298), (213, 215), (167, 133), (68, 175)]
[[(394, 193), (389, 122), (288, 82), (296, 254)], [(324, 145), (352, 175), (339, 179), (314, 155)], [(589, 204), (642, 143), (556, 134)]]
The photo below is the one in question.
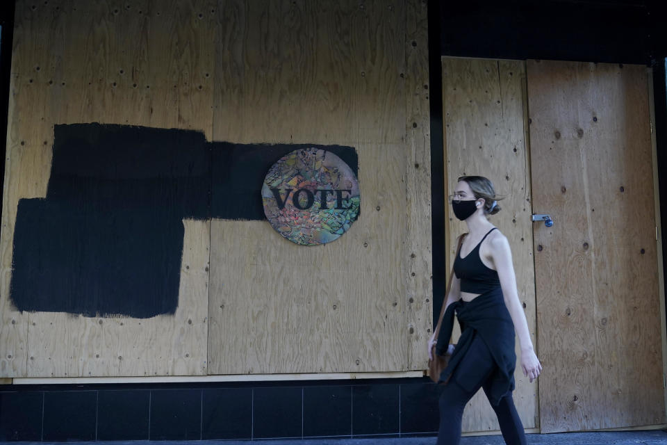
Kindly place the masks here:
[[(667, 445), (667, 430), (614, 431), (614, 432), (558, 432), (527, 434), (530, 445)], [(16, 444), (17, 442), (0, 442)], [(62, 442), (19, 442), (24, 445), (58, 444)], [(130, 442), (76, 442), (77, 445), (435, 445), (435, 437), (401, 437), (374, 439), (272, 439), (272, 440), (207, 440), (207, 441), (130, 441)], [(469, 436), (461, 438), (461, 445), (504, 445), (501, 435)]]

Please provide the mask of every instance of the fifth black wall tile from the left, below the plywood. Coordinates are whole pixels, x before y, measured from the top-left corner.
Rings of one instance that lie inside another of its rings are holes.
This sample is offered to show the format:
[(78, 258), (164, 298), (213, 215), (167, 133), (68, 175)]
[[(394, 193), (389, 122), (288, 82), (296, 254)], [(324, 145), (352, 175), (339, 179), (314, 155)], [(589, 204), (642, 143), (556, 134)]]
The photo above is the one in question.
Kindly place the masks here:
[(252, 438), (252, 388), (204, 389), (201, 439)]

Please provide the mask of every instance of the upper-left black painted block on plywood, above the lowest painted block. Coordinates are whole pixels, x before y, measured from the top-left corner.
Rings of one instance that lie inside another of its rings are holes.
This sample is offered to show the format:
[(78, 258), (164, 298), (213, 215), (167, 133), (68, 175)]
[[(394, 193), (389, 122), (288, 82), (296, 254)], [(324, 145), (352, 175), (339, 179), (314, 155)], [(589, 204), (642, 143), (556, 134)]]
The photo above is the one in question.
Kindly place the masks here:
[[(150, 207), (206, 219), (211, 147), (201, 131), (108, 124), (53, 128), (47, 199)], [(120, 209), (118, 208), (120, 207)]]

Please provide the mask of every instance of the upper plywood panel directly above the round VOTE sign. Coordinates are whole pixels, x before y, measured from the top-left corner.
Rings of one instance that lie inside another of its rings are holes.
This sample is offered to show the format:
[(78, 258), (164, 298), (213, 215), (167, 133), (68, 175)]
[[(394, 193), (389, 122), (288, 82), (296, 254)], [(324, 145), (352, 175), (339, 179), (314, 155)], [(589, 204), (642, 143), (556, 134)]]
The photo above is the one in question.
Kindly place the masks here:
[(404, 1), (221, 3), (215, 139), (356, 146), (404, 136)]

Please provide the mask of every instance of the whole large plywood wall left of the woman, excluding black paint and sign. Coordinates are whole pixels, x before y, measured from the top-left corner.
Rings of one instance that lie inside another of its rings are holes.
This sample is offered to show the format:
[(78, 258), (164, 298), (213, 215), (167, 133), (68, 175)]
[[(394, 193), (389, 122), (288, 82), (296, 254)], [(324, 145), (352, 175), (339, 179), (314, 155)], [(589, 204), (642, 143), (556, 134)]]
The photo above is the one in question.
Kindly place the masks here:
[[(0, 235), (2, 376), (424, 369), (424, 2), (18, 1), (15, 22)], [(267, 223), (186, 219), (173, 316), (18, 312), (8, 296), (17, 204), (47, 193), (54, 125), (82, 122), (354, 147), (361, 218), (340, 241), (305, 250), (267, 232)]]

